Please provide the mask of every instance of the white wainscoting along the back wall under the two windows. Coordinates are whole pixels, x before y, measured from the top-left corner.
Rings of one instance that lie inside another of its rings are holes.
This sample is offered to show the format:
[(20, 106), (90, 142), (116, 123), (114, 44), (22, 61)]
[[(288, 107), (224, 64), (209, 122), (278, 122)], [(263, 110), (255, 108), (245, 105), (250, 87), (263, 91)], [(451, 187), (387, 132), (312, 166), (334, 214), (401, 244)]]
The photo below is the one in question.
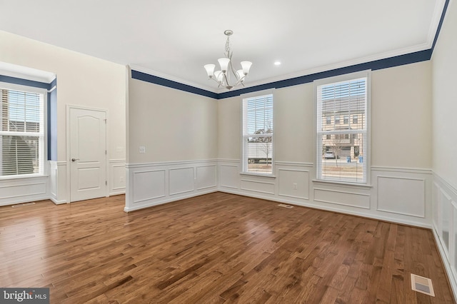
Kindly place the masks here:
[(431, 228), (430, 170), (371, 167), (371, 185), (316, 181), (313, 163), (277, 161), (273, 177), (220, 159), (219, 191)]

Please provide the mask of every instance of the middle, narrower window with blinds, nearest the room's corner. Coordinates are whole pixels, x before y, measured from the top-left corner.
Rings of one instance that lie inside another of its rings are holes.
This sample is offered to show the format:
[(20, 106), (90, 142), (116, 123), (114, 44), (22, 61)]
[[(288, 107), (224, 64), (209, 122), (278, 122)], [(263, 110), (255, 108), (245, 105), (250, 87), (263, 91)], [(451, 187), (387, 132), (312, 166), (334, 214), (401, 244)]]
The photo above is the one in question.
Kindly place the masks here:
[(243, 172), (273, 174), (273, 94), (243, 98)]

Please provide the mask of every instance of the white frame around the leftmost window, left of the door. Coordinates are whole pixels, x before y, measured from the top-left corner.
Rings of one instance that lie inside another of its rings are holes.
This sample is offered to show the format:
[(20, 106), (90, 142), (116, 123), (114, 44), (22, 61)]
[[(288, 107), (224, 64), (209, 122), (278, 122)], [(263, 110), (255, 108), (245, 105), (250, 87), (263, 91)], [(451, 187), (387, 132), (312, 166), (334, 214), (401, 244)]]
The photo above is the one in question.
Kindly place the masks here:
[[(14, 179), (14, 178), (31, 178), (31, 177), (41, 177), (41, 176), (47, 176), (47, 166), (46, 166), (46, 161), (47, 161), (47, 153), (48, 153), (48, 134), (47, 134), (47, 98), (48, 98), (48, 91), (46, 88), (37, 88), (34, 86), (23, 86), (19, 85), (16, 83), (6, 83), (6, 82), (0, 82), (0, 88), (4, 88), (7, 90), (11, 91), (24, 91), (24, 92), (30, 92), (30, 93), (39, 93), (43, 96), (42, 104), (41, 104), (41, 111), (42, 111), (42, 116), (43, 116), (43, 125), (42, 125), (42, 130), (43, 130), (43, 141), (41, 142), (42, 148), (41, 150), (41, 156), (39, 159), (40, 163), (40, 169), (39, 173), (30, 173), (30, 174), (16, 174), (16, 175), (9, 175), (9, 176), (1, 176), (0, 175), (0, 180), (8, 180), (8, 179)], [(7, 132), (0, 131), (2, 135), (6, 135)], [(10, 133), (11, 134), (11, 133)], [(27, 135), (26, 132), (21, 132), (22, 135)], [(30, 133), (30, 136), (36, 136), (36, 133)], [(0, 151), (1, 153), (1, 151)], [(1, 173), (0, 173), (1, 174)]]

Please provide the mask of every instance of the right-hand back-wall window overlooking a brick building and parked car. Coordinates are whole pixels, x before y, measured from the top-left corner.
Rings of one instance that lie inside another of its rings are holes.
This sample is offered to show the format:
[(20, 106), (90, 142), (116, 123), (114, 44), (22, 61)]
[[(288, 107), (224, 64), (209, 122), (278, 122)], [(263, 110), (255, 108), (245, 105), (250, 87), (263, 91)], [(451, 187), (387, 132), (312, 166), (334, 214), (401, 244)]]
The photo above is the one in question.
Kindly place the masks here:
[[(315, 81), (318, 180), (368, 182), (368, 77), (368, 72), (360, 72)], [(343, 116), (343, 124), (328, 126), (328, 116)]]

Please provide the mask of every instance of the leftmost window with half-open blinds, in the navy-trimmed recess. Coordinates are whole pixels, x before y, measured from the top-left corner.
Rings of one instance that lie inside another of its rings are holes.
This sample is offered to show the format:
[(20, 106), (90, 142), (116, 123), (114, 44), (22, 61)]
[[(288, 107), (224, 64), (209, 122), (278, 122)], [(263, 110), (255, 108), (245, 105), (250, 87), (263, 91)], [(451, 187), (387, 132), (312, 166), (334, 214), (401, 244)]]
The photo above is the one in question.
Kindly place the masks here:
[(1, 84), (0, 176), (43, 174), (44, 98), (36, 88), (21, 91)]

